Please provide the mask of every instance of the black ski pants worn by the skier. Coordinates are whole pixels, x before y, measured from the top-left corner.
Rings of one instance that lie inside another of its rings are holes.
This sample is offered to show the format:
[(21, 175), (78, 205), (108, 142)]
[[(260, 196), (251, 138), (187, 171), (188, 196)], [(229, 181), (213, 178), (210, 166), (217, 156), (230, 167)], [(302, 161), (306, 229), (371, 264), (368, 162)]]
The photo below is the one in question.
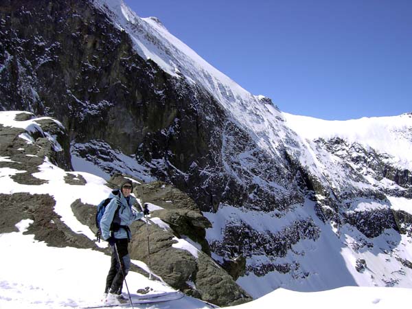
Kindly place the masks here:
[[(119, 260), (117, 258), (117, 253), (119, 253)], [(130, 255), (128, 253), (128, 239), (116, 239), (116, 246), (111, 246), (112, 255), (111, 255), (111, 266), (108, 271), (106, 278), (106, 288), (104, 293), (115, 293), (121, 294), (122, 287), (124, 282), (124, 275), (126, 276), (128, 270), (130, 269)], [(120, 268), (122, 267), (122, 268)], [(122, 271), (123, 270), (123, 271)]]

